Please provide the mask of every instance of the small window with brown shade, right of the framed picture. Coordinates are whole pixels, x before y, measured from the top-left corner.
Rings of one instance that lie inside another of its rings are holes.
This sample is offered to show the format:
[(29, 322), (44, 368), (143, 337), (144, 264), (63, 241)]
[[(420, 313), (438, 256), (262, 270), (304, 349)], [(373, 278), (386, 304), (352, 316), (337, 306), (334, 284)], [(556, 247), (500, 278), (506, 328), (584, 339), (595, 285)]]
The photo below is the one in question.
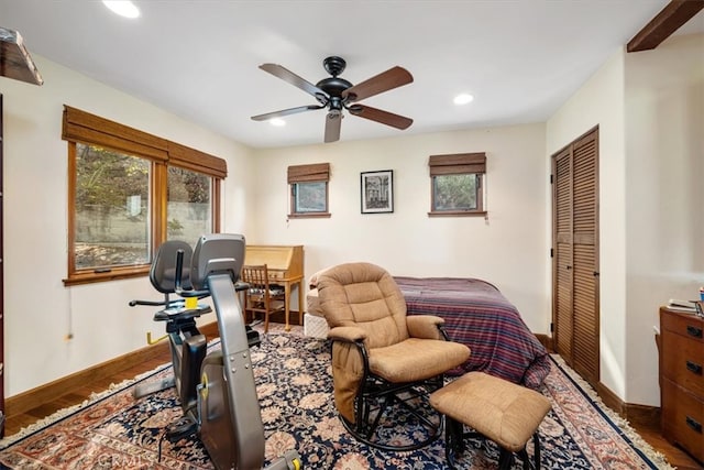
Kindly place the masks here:
[(484, 153), (431, 155), (430, 216), (484, 215)]

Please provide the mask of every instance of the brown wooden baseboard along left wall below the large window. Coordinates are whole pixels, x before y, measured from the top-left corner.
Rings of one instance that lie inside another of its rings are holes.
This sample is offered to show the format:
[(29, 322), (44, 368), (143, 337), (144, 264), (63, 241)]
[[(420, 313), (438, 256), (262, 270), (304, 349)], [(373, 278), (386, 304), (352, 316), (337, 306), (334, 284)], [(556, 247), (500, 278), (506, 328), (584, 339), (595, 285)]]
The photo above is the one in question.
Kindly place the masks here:
[[(218, 336), (218, 324), (216, 321), (202, 325), (199, 329), (208, 339)], [(26, 413), (43, 403), (55, 400), (57, 396), (72, 393), (85, 386), (86, 383), (110, 379), (122, 371), (133, 368), (155, 356), (164, 354), (167, 351), (168, 343), (166, 341), (146, 346), (44, 385), (28, 390), (26, 392), (7, 397), (4, 402), (6, 416), (11, 417)]]

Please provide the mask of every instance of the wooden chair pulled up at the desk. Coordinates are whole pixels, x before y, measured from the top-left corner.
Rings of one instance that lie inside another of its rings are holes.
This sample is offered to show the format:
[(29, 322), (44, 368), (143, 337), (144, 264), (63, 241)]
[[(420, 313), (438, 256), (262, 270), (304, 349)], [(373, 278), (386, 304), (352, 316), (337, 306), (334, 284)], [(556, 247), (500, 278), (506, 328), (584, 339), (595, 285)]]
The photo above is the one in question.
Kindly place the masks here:
[(286, 295), (284, 288), (268, 282), (268, 269), (266, 264), (242, 267), (241, 280), (250, 285), (244, 291), (244, 318), (252, 314), (255, 319), (257, 314), (264, 316), (264, 332), (268, 331), (270, 315), (286, 309)]

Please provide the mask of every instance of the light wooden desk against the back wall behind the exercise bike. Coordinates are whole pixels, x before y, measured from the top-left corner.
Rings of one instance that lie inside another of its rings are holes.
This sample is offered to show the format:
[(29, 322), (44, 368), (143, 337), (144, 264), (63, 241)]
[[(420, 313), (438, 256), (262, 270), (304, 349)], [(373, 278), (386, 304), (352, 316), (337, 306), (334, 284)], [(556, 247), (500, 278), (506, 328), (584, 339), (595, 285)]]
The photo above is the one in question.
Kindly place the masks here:
[(290, 330), (290, 294), (298, 288), (298, 323), (304, 316), (304, 247), (249, 244), (244, 253), (244, 264), (266, 264), (268, 282), (284, 286), (286, 296), (286, 331)]

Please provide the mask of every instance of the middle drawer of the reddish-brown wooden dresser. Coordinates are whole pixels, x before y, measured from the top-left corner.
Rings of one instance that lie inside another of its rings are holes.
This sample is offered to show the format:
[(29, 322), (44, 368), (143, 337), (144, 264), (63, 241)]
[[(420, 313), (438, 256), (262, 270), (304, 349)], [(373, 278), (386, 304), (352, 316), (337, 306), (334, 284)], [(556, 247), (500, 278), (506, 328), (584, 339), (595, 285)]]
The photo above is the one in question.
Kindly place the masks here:
[(662, 375), (691, 393), (704, 396), (704, 342), (666, 331), (661, 336)]

